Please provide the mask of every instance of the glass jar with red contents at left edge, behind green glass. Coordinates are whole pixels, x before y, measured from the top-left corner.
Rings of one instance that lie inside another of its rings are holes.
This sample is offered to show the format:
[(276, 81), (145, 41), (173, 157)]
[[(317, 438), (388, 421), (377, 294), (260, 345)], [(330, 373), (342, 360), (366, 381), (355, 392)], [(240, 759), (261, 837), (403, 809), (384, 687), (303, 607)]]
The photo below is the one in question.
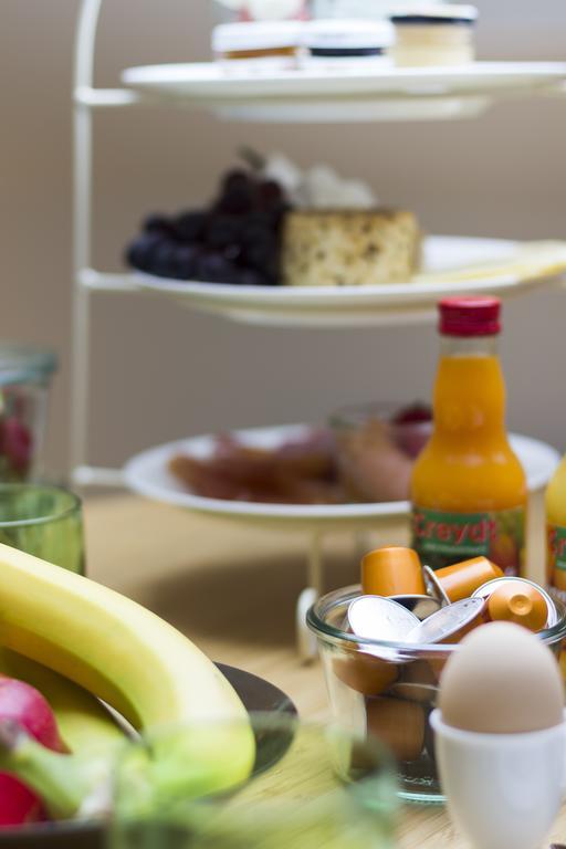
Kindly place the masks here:
[(27, 481), (42, 471), (52, 352), (0, 344), (0, 482)]

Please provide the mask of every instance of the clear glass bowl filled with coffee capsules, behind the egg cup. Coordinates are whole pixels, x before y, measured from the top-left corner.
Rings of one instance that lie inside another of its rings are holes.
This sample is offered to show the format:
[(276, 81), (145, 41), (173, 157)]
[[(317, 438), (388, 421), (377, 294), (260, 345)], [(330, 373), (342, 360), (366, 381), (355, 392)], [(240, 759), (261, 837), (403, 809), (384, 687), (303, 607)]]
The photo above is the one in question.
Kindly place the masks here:
[[(346, 630), (359, 586), (317, 601), (307, 623), (318, 639), (332, 712), (337, 723), (360, 735), (375, 734), (398, 762), (401, 798), (444, 801), (429, 723), (437, 706), (440, 673), (458, 644), (408, 646), (361, 640)], [(539, 638), (560, 659), (566, 639), (566, 607), (555, 599), (558, 622)]]

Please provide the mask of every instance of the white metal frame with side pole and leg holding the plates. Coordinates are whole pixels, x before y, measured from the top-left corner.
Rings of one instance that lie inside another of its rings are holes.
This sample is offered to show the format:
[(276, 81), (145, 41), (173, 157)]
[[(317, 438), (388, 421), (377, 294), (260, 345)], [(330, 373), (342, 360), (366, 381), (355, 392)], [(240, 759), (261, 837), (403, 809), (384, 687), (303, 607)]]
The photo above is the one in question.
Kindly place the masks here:
[[(122, 88), (94, 87), (96, 30), (103, 0), (82, 0), (74, 56), (74, 218), (73, 218), (73, 335), (71, 377), (71, 469), (76, 486), (119, 486), (119, 470), (88, 465), (91, 384), (91, 297), (93, 292), (135, 292), (126, 275), (103, 274), (93, 269), (93, 112), (125, 108), (144, 97)], [(306, 628), (307, 609), (323, 591), (322, 535), (313, 533), (307, 560), (308, 588), (296, 607), (296, 635), (301, 658), (316, 656), (316, 640)]]

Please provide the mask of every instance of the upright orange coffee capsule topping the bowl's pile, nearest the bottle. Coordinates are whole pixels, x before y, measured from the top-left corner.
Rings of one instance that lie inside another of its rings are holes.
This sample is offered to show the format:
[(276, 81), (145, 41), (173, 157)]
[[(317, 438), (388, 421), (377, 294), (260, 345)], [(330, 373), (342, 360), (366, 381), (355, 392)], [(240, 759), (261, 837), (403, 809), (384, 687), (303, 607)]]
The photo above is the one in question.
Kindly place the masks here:
[(419, 555), (412, 548), (400, 547), (366, 554), (361, 560), (361, 587), (367, 596), (424, 596)]

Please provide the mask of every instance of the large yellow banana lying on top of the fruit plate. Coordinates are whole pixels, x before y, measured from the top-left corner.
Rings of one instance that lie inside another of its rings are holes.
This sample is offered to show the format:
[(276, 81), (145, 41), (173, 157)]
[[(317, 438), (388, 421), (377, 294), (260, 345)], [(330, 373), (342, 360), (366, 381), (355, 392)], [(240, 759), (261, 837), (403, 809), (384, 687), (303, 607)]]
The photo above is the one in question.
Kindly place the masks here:
[(138, 730), (240, 720), (223, 752), (227, 782), (249, 776), (255, 744), (237, 693), (189, 639), (135, 601), (0, 545), (0, 643), (71, 679)]

